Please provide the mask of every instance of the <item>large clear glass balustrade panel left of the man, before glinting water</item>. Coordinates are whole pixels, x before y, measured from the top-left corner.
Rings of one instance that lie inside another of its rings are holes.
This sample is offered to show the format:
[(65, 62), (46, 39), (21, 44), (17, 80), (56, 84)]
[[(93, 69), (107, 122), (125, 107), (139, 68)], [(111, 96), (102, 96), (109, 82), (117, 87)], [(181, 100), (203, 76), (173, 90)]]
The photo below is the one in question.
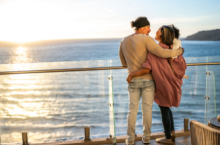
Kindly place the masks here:
[(1, 75), (1, 143), (109, 137), (109, 70)]

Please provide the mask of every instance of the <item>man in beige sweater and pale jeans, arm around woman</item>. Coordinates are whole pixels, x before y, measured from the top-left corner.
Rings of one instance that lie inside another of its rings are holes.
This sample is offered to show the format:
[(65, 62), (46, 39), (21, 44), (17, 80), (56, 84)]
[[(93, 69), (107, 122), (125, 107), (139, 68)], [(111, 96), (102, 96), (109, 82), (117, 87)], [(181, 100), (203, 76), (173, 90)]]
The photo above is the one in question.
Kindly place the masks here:
[[(150, 22), (146, 17), (138, 17), (131, 22), (132, 28), (135, 27), (135, 33), (125, 37), (120, 44), (119, 57), (122, 66), (128, 68), (128, 73), (142, 68), (146, 61), (147, 52), (162, 57), (170, 58), (183, 53), (183, 49), (169, 50), (160, 47), (153, 38), (148, 36), (150, 33)], [(152, 105), (155, 92), (155, 84), (151, 73), (132, 78), (128, 84), (129, 94), (129, 113), (128, 113), (128, 138), (125, 140), (127, 145), (135, 142), (135, 124), (139, 101), (142, 96), (142, 119), (143, 119), (143, 143), (150, 143), (151, 123), (152, 123)]]

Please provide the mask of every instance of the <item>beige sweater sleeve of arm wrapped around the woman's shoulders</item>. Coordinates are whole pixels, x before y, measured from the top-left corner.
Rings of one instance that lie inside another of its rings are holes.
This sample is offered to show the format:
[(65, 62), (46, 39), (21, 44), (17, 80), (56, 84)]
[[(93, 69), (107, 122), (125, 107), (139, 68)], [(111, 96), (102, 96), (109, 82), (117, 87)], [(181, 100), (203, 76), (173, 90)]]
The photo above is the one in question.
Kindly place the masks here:
[(181, 55), (183, 52), (182, 49), (175, 49), (175, 50), (163, 49), (150, 36), (145, 37), (145, 44), (149, 52), (162, 58), (170, 58), (170, 57), (178, 56)]

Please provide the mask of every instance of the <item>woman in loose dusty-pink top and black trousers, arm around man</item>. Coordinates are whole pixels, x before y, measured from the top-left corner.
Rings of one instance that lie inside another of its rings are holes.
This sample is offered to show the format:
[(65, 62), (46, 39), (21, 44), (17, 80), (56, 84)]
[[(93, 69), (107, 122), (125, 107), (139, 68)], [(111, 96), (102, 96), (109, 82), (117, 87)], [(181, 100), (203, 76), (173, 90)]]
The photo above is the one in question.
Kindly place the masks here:
[[(159, 41), (159, 45), (164, 49), (172, 49), (174, 30), (169, 26), (162, 26), (158, 29), (155, 39)], [(182, 78), (187, 67), (185, 59), (182, 55), (175, 59), (164, 59), (149, 52), (142, 67), (142, 69), (130, 73), (127, 81), (130, 83), (132, 77), (152, 71), (156, 84), (154, 101), (160, 107), (165, 132), (165, 138), (159, 138), (156, 141), (172, 144), (171, 132), (174, 134), (174, 122), (170, 107), (179, 107), (180, 104)]]

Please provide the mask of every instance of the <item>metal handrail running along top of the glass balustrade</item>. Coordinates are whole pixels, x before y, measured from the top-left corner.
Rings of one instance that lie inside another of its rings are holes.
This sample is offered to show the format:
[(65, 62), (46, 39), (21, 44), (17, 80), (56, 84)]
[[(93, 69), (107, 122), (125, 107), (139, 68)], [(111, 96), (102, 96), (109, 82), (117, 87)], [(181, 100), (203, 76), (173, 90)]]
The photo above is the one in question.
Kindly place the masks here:
[[(208, 63), (188, 63), (187, 66), (197, 65), (220, 65), (220, 62), (208, 62)], [(67, 68), (67, 69), (47, 69), (47, 70), (22, 70), (22, 71), (5, 71), (0, 72), (0, 75), (12, 75), (12, 74), (29, 74), (29, 73), (52, 73), (52, 72), (69, 72), (69, 71), (91, 71), (91, 70), (110, 70), (110, 69), (125, 69), (123, 66), (111, 66), (111, 67), (93, 67), (93, 68)]]

